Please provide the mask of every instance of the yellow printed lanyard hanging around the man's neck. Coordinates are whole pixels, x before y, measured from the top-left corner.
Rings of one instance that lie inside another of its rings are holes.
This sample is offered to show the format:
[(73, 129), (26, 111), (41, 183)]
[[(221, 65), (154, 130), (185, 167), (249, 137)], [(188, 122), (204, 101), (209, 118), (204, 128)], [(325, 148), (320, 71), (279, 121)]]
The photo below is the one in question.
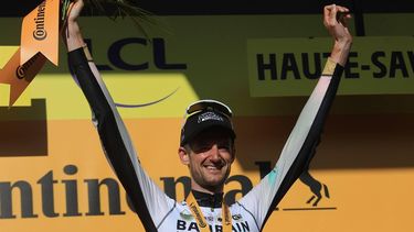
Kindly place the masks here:
[[(201, 232), (210, 231), (209, 224), (205, 221), (203, 212), (201, 211), (191, 191), (190, 191), (190, 195), (187, 197), (185, 202), (192, 216), (194, 217), (200, 231)], [(225, 205), (224, 201), (222, 202), (222, 227), (223, 227), (223, 230), (222, 230), (223, 232), (232, 231), (232, 216), (231, 216), (227, 205)]]

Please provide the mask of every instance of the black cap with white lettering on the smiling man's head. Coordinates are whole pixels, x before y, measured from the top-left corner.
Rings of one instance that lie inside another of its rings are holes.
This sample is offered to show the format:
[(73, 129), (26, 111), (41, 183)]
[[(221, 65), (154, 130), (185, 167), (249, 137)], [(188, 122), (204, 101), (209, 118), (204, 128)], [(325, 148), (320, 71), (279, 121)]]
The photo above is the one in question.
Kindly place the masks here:
[[(209, 104), (211, 102), (209, 102)], [(234, 140), (235, 133), (234, 133), (233, 124), (232, 124), (230, 117), (231, 114), (220, 112), (216, 110), (216, 108), (211, 108), (211, 107), (204, 108), (200, 110), (199, 112), (191, 114), (187, 119), (185, 124), (181, 129), (180, 145), (181, 146), (185, 145), (193, 137), (195, 137), (200, 132), (206, 129), (213, 128), (213, 126), (219, 126), (219, 128), (223, 128), (227, 130), (229, 134)]]

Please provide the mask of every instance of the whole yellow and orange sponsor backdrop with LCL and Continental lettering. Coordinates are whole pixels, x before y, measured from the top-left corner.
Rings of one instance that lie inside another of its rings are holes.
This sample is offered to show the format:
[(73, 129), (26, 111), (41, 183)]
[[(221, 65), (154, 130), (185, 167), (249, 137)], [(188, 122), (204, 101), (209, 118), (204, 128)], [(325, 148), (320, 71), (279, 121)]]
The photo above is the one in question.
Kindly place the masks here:
[[(374, 25), (381, 19), (375, 15)], [(403, 22), (411, 19), (405, 16)], [(307, 98), (252, 97), (247, 45), (253, 38), (319, 36), (314, 40), (329, 52), (330, 41), (322, 44), (320, 38), (327, 36), (320, 16), (163, 16), (162, 21), (174, 33), (158, 31), (150, 35), (151, 43), (129, 21), (120, 26), (104, 18), (83, 18), (81, 24), (104, 80), (121, 104), (118, 109), (142, 166), (172, 198), (182, 200), (190, 188), (188, 168), (177, 155), (185, 107), (213, 98), (232, 108), (237, 157), (225, 190), (227, 200), (240, 199), (275, 165)], [(8, 25), (0, 44), (14, 44), (21, 21), (0, 22)], [(97, 30), (103, 25), (105, 30)], [(389, 26), (388, 32), (403, 35), (406, 30)], [(355, 43), (352, 52), (358, 56), (350, 62), (358, 67), (351, 66), (350, 74), (358, 73), (360, 78), (343, 78), (340, 91), (351, 82), (352, 91), (361, 93), (385, 89), (378, 84), (359, 90), (357, 82), (363, 86), (373, 80), (389, 81), (389, 92), (394, 91), (393, 81), (406, 80), (410, 85), (404, 88), (412, 87), (410, 51), (396, 49), (400, 45), (392, 42), (382, 44), (403, 52), (402, 58), (397, 53), (392, 58), (392, 51), (383, 51), (385, 58), (379, 56), (388, 75), (392, 60), (404, 60), (410, 77), (396, 65), (394, 78), (365, 80), (363, 74), (381, 69), (367, 63), (371, 69), (360, 70), (375, 49), (367, 45), (365, 51)], [(312, 52), (311, 43), (304, 47), (304, 53)], [(17, 49), (0, 47), (3, 69)], [(28, 102), (9, 109), (3, 96), (0, 99), (0, 232), (144, 231), (104, 157), (91, 109), (67, 69), (65, 49), (60, 51), (61, 66), (44, 67), (29, 87)], [(268, 46), (263, 51), (272, 52)], [(315, 80), (302, 81), (308, 84), (300, 91), (310, 91)], [(264, 231), (414, 231), (413, 100), (413, 95), (338, 96), (310, 172), (284, 197)]]

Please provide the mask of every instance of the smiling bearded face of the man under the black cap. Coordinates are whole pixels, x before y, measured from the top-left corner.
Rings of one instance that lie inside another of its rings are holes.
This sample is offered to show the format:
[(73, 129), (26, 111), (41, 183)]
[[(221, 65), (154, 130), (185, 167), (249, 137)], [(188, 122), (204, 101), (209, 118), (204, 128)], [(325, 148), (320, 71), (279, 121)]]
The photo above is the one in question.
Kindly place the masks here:
[(195, 136), (189, 146), (188, 165), (193, 178), (192, 187), (195, 190), (198, 187), (222, 190), (234, 161), (233, 140), (229, 132), (221, 128), (208, 129)]

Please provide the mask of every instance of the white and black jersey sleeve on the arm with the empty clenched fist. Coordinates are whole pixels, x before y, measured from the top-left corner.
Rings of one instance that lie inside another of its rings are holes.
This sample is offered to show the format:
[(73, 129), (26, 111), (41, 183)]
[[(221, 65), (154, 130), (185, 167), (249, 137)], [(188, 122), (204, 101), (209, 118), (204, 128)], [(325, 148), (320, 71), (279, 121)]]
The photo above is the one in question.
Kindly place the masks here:
[(320, 141), (323, 123), (336, 96), (342, 71), (343, 67), (328, 59), (275, 167), (236, 202), (255, 218), (261, 230), (287, 190), (309, 165)]

